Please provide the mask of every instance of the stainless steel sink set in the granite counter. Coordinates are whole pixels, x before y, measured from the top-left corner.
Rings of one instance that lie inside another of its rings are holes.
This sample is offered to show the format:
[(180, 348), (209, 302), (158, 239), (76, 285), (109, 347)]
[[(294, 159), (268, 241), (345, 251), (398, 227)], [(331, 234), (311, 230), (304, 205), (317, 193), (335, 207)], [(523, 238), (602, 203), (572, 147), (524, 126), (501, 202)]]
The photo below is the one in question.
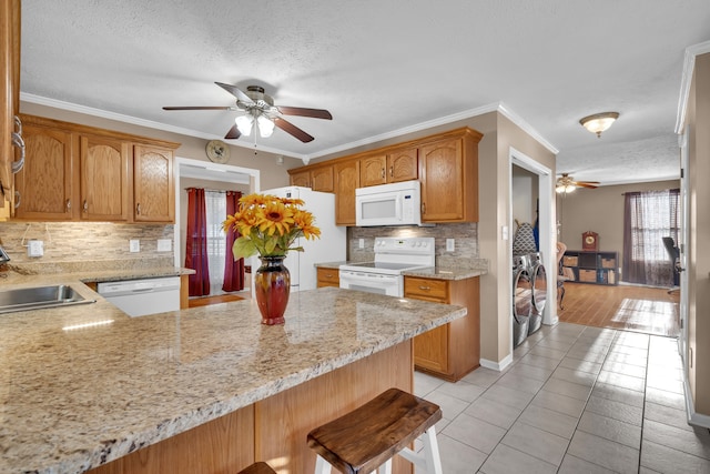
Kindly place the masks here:
[(88, 303), (95, 303), (95, 300), (87, 300), (69, 285), (0, 291), (0, 314)]

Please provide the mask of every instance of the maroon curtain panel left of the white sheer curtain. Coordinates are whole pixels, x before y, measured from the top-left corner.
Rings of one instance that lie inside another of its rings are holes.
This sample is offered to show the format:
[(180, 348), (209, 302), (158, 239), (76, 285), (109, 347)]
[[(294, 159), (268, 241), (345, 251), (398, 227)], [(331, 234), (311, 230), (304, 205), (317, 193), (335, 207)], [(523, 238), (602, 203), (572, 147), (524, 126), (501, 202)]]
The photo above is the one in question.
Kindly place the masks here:
[(197, 188), (187, 189), (185, 268), (196, 272), (189, 276), (190, 296), (210, 294), (206, 206), (204, 203), (204, 190)]

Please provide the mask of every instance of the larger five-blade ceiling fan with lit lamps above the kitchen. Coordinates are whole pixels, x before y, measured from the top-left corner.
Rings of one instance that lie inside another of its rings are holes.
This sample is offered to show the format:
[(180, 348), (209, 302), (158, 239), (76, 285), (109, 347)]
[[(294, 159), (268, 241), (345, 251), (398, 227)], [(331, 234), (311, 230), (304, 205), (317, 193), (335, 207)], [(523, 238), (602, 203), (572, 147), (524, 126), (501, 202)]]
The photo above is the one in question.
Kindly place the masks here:
[(246, 112), (234, 120), (234, 125), (224, 135), (227, 140), (239, 139), (242, 134), (248, 135), (254, 124), (256, 124), (262, 138), (271, 137), (274, 127), (278, 127), (284, 132), (295, 137), (304, 143), (313, 141), (314, 138), (301, 130), (298, 127), (286, 121), (282, 115), (311, 117), (314, 119), (333, 120), (331, 112), (323, 109), (305, 109), (302, 107), (274, 105), (274, 99), (264, 93), (264, 88), (260, 85), (248, 85), (246, 92), (236, 85), (215, 82), (219, 87), (234, 95), (235, 105), (227, 107), (163, 107), (163, 110), (234, 110)]

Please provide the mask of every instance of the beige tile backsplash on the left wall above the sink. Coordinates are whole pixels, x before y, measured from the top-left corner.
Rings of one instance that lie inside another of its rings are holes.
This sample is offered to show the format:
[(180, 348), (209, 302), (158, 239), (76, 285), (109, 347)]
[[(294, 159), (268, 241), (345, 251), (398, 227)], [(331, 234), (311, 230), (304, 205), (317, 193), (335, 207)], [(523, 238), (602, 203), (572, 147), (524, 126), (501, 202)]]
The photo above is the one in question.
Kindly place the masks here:
[[(42, 256), (28, 256), (28, 240), (44, 243)], [(142, 261), (141, 266), (173, 262), (170, 252), (158, 252), (158, 239), (173, 242), (173, 225), (116, 224), (110, 222), (2, 222), (0, 244), (11, 265), (49, 265), (83, 261)], [(131, 252), (129, 242), (140, 241), (140, 252)], [(160, 263), (159, 263), (160, 261)], [(138, 263), (138, 262), (136, 262)]]

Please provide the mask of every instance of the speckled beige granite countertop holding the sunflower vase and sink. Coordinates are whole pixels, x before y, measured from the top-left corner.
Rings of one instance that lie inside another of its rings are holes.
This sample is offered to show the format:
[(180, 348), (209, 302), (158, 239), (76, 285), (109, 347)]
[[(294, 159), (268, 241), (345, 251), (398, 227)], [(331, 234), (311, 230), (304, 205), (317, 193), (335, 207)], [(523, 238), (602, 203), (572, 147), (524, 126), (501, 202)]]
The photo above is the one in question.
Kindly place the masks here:
[(84, 472), (466, 314), (327, 288), (283, 326), (252, 300), (132, 319), (62, 283), (97, 302), (0, 315), (2, 473)]

